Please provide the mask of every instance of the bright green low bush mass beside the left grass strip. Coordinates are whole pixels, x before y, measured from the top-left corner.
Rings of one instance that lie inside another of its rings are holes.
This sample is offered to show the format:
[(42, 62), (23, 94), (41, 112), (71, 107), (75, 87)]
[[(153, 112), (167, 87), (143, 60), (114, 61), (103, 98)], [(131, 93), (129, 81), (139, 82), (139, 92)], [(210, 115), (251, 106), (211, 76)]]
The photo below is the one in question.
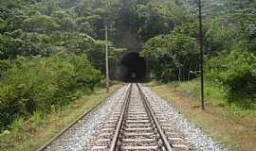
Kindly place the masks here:
[(0, 79), (0, 127), (36, 110), (64, 106), (81, 91), (92, 92), (100, 81), (101, 73), (85, 55), (19, 58)]

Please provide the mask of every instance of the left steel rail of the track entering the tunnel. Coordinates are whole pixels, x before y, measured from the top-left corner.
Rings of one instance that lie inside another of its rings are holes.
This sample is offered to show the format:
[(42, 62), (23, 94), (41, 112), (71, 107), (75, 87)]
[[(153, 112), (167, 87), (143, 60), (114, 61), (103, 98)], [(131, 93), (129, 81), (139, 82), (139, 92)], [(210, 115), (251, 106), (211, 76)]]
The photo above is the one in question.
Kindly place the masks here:
[(120, 130), (121, 130), (122, 124), (124, 122), (124, 115), (125, 115), (125, 113), (128, 110), (129, 101), (130, 101), (131, 92), (132, 92), (132, 87), (133, 87), (133, 84), (130, 85), (129, 90), (126, 93), (125, 102), (124, 102), (124, 104), (122, 106), (122, 109), (121, 109), (122, 111), (121, 111), (121, 114), (120, 114), (120, 117), (119, 117), (119, 123), (118, 123), (118, 126), (116, 128), (113, 140), (112, 140), (112, 142), (110, 144), (109, 151), (116, 151), (116, 149), (117, 149), (117, 146), (118, 146), (117, 144), (119, 143), (119, 134), (120, 134)]

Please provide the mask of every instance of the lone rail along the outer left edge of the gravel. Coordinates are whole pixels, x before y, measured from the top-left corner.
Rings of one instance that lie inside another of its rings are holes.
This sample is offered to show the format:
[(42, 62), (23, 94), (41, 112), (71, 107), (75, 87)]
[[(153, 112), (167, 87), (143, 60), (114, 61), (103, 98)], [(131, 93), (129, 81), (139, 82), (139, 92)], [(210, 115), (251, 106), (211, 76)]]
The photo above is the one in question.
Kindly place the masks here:
[[(117, 89), (117, 91), (120, 89), (121, 87), (119, 87)], [(83, 117), (85, 117), (86, 115), (88, 115), (92, 110), (97, 109), (99, 106), (101, 106), (101, 104), (103, 104), (111, 95), (113, 95), (115, 92), (111, 92), (109, 93), (101, 102), (99, 102), (96, 106), (88, 109), (87, 111), (85, 111), (81, 116), (79, 116), (74, 122), (72, 122), (70, 125), (65, 126), (63, 130), (61, 130), (57, 135), (55, 135), (53, 138), (51, 138), (49, 141), (47, 141), (45, 144), (43, 144), (40, 148), (38, 148), (36, 151), (45, 151), (46, 147), (49, 146), (51, 143), (53, 143), (54, 141), (58, 140), (65, 131), (67, 131), (69, 128), (71, 128), (72, 126), (74, 126), (75, 124), (77, 124), (80, 120), (82, 120)]]

